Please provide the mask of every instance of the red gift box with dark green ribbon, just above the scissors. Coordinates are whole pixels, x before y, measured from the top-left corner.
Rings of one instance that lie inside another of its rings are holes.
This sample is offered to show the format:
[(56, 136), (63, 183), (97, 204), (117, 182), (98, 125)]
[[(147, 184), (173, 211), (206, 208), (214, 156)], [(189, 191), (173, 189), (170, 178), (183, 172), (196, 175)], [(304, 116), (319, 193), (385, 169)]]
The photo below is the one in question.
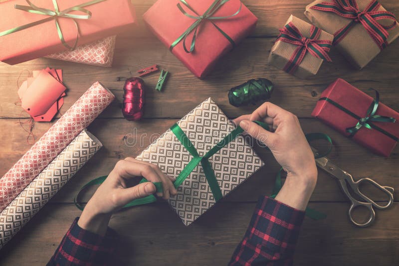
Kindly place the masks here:
[(320, 119), (338, 132), (350, 136), (353, 140), (368, 147), (373, 152), (389, 156), (398, 142), (399, 114), (385, 104), (379, 103), (375, 115), (394, 118), (397, 120), (396, 123), (368, 121), (367, 123), (371, 126), (371, 129), (363, 126), (352, 136), (347, 131), (348, 128), (355, 127), (360, 118), (367, 116), (367, 111), (373, 101), (372, 97), (345, 80), (337, 79), (323, 91), (312, 112), (312, 116)]

